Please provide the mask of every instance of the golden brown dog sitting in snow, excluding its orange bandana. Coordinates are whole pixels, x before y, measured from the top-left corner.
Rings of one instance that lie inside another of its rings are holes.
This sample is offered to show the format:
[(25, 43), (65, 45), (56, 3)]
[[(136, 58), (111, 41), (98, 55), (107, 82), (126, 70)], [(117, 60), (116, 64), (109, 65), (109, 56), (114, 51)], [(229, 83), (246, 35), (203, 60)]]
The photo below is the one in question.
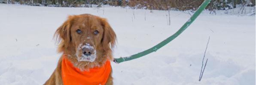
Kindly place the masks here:
[[(116, 34), (106, 19), (90, 14), (70, 15), (55, 32), (58, 52), (67, 55), (74, 67), (88, 70), (101, 67), (107, 60), (112, 61), (112, 50), (116, 42)], [(63, 85), (63, 56), (50, 78), (44, 85)], [(111, 72), (106, 85), (113, 85)]]

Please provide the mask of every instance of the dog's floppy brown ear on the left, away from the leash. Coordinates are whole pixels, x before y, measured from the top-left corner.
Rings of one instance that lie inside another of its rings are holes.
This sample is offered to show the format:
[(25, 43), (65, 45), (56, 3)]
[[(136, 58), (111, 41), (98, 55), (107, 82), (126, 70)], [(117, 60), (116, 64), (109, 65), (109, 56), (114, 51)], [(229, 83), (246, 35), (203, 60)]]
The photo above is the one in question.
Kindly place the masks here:
[(72, 26), (73, 18), (74, 18), (74, 15), (73, 16), (70, 15), (67, 18), (67, 21), (62, 23), (62, 25), (58, 27), (58, 29), (55, 32), (54, 37), (56, 38), (56, 42), (59, 43), (61, 41), (61, 43), (58, 46), (58, 52), (64, 51), (64, 49), (66, 49), (70, 44), (70, 41), (71, 41), (70, 27)]

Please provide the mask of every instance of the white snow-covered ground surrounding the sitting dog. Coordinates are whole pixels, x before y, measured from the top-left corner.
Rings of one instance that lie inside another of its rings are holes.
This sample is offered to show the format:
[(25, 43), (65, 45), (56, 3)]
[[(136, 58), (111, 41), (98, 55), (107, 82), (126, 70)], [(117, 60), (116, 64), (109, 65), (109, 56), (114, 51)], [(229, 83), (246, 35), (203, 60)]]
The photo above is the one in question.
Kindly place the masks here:
[[(134, 12), (134, 14), (133, 14)], [(174, 34), (190, 15), (171, 11), (0, 4), (0, 84), (42, 85), (61, 54), (53, 34), (68, 15), (107, 18), (117, 35), (114, 57), (146, 50)], [(180, 36), (139, 59), (111, 63), (115, 85), (255, 85), (255, 15), (204, 11)], [(145, 21), (146, 18), (146, 21)], [(207, 66), (198, 81), (202, 58)]]

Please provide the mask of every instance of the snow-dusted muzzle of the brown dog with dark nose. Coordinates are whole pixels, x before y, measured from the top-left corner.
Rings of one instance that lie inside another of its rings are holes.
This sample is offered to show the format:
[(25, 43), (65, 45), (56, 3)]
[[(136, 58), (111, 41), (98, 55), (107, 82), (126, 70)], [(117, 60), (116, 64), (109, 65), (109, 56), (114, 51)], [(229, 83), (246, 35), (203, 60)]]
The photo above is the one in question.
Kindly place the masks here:
[[(85, 52), (85, 50), (90, 50)], [(96, 50), (90, 45), (80, 44), (76, 49), (76, 59), (78, 62), (94, 62), (96, 59)]]

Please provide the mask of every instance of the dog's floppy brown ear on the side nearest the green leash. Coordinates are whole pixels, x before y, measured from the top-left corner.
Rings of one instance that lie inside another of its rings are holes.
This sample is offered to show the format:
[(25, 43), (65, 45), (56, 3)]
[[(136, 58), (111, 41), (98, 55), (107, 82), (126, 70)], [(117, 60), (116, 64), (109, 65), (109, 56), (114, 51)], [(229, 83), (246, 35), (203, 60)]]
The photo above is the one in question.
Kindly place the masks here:
[[(101, 21), (101, 25), (103, 26), (103, 29), (104, 29), (103, 37), (101, 40), (103, 48), (107, 53), (112, 53), (111, 48), (113, 48), (115, 46), (116, 33), (114, 32), (114, 30), (112, 29), (112, 27), (110, 26), (110, 24), (107, 22), (107, 20), (105, 18), (100, 18), (100, 21)], [(108, 54), (108, 56), (111, 57), (110, 59), (112, 59), (111, 54)]]

